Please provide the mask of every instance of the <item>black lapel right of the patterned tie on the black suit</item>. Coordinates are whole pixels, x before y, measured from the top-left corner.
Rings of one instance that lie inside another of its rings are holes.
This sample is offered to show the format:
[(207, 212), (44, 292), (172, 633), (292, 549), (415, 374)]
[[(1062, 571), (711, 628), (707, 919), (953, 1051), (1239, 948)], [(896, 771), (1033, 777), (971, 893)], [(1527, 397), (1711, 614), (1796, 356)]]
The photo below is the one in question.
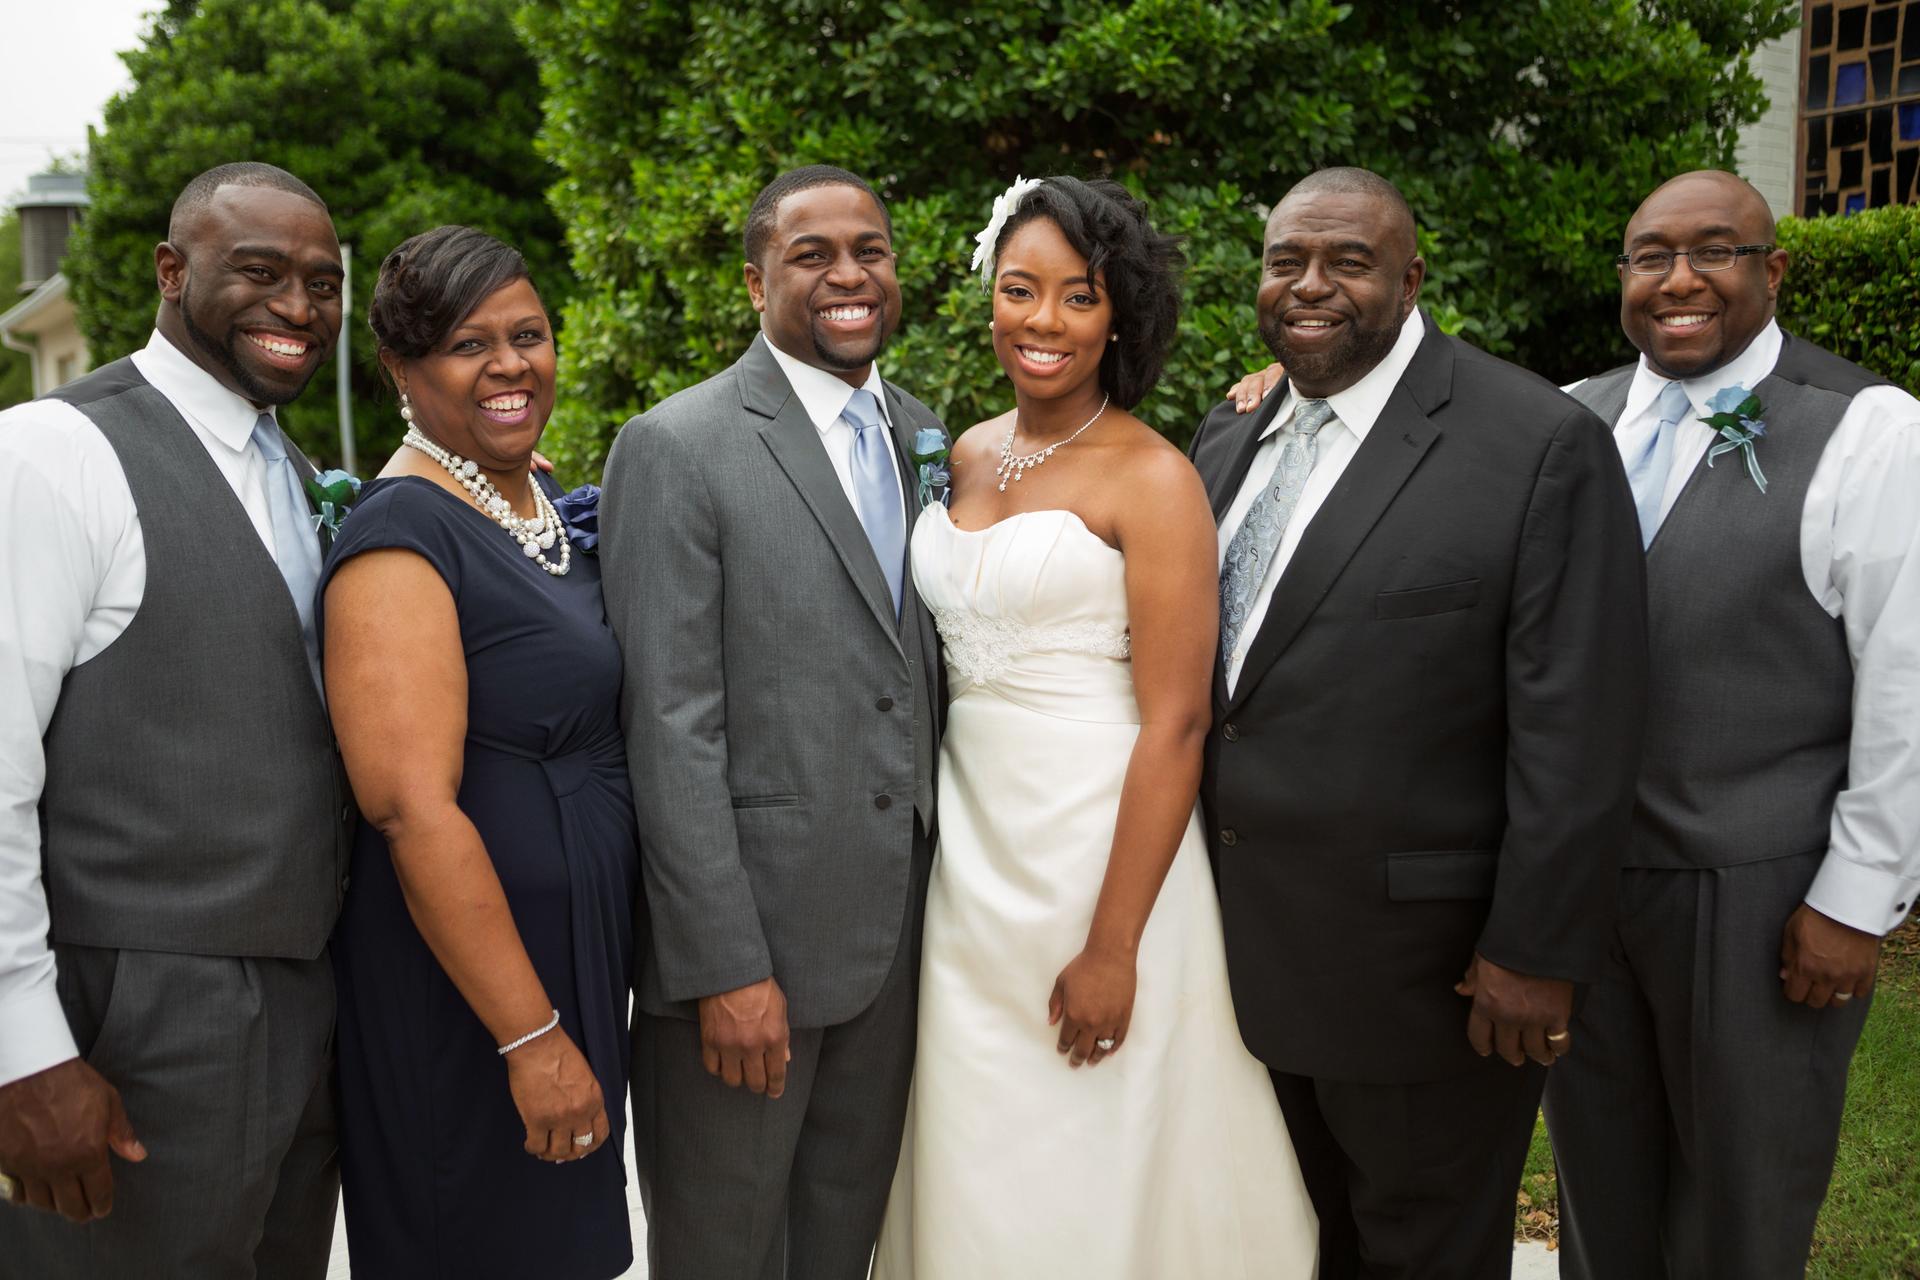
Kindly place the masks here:
[[(1294, 641), (1440, 436), (1428, 415), (1452, 395), (1453, 349), (1448, 342), (1432, 320), (1427, 320), (1427, 338), (1413, 353), (1413, 363), (1394, 386), (1367, 439), (1327, 493), (1313, 522), (1300, 535), (1286, 570), (1281, 572), (1267, 616), (1246, 651), (1246, 662), (1240, 664), (1235, 693), (1223, 699), (1227, 710), (1246, 700), (1267, 668)], [(1215, 685), (1215, 693), (1223, 689), (1223, 683)]]

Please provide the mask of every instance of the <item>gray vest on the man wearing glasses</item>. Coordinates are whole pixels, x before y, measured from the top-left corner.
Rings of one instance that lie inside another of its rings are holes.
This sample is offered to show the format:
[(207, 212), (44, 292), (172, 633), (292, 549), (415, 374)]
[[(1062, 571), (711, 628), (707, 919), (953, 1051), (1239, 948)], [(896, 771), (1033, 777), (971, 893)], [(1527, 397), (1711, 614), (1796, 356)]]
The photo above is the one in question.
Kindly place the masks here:
[[(1617, 424), (1634, 367), (1572, 390)], [(1699, 461), (1647, 549), (1647, 739), (1630, 867), (1726, 867), (1828, 846), (1847, 785), (1853, 660), (1807, 591), (1807, 486), (1853, 395), (1880, 376), (1786, 338), (1753, 388), (1763, 495), (1743, 457)]]

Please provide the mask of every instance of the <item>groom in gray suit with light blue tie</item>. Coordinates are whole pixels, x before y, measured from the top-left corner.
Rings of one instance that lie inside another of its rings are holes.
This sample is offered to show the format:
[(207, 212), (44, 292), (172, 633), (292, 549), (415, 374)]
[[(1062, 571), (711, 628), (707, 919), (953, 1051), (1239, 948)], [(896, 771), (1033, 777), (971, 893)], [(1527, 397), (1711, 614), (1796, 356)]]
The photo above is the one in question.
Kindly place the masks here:
[(862, 1280), (900, 1150), (939, 670), (904, 445), (939, 420), (874, 368), (891, 234), (845, 169), (774, 178), (745, 238), (760, 336), (607, 459), (659, 1276)]

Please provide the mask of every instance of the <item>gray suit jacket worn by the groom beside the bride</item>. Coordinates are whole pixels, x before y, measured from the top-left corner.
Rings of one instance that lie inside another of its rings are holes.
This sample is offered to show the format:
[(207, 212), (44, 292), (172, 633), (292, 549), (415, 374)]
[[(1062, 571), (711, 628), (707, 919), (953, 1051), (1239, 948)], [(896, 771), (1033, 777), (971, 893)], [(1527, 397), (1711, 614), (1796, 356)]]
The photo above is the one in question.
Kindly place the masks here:
[[(906, 441), (939, 418), (891, 384), (887, 416), (912, 520)], [(620, 430), (601, 526), (651, 925), (639, 1007), (691, 1017), (772, 975), (793, 1027), (854, 1017), (908, 919), (916, 816), (933, 827), (939, 641), (912, 574), (895, 620), (766, 338)]]

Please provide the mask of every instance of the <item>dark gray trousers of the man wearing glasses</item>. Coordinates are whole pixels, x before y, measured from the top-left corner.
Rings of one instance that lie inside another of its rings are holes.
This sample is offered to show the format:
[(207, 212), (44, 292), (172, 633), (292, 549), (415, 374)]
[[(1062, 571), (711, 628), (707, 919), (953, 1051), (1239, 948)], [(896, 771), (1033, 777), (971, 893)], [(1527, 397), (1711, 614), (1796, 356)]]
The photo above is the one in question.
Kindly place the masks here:
[(1822, 856), (1620, 873), (1607, 973), (1548, 1073), (1567, 1280), (1805, 1274), (1868, 1006), (1782, 994)]

